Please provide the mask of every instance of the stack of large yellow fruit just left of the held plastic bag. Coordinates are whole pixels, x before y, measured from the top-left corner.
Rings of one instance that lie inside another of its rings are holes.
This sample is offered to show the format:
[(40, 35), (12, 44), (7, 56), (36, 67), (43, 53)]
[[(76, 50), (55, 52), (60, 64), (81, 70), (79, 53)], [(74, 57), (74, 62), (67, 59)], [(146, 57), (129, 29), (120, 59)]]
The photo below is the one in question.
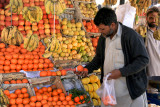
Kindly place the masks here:
[(100, 80), (96, 75), (90, 75), (81, 79), (82, 84), (87, 92), (89, 92), (92, 98), (94, 106), (101, 105), (100, 97), (97, 95), (96, 91), (101, 86)]

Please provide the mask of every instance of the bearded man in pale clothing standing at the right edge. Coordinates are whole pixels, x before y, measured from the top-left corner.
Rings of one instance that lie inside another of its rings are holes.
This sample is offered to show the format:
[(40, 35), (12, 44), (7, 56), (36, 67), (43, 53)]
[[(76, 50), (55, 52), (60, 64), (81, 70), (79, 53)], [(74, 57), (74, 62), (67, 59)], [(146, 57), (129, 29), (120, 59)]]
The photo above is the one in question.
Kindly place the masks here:
[[(157, 7), (152, 7), (147, 10), (147, 34), (146, 34), (146, 48), (150, 57), (150, 62), (147, 67), (149, 76), (160, 76), (160, 41), (153, 37), (154, 31), (157, 29), (159, 10)], [(156, 19), (157, 18), (157, 19)]]

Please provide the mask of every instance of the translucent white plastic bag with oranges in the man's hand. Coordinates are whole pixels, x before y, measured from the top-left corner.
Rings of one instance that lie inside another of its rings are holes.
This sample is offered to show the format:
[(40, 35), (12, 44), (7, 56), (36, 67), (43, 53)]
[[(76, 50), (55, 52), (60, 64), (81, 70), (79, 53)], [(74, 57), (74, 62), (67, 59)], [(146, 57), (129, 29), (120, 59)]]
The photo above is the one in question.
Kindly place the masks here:
[(111, 74), (109, 73), (106, 77), (104, 77), (103, 84), (96, 91), (105, 106), (114, 106), (117, 104), (114, 90), (114, 80), (107, 80), (110, 75)]

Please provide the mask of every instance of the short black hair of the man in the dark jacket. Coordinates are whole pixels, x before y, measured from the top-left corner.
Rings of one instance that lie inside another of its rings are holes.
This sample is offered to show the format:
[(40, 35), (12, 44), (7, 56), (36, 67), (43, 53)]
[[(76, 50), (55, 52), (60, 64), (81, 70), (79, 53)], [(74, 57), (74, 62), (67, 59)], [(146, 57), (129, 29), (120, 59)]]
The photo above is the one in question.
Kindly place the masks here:
[(111, 25), (112, 23), (117, 23), (115, 11), (108, 7), (99, 9), (94, 18), (94, 23), (96, 26), (99, 26), (100, 24)]

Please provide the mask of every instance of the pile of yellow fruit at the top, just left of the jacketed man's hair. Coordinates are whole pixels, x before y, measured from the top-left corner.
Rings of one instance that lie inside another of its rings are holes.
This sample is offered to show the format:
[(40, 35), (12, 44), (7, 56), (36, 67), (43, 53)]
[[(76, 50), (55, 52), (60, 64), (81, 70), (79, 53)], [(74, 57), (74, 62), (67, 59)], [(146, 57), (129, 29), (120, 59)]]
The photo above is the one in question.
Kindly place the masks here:
[(94, 18), (98, 11), (96, 3), (79, 2), (79, 8), (84, 18)]

